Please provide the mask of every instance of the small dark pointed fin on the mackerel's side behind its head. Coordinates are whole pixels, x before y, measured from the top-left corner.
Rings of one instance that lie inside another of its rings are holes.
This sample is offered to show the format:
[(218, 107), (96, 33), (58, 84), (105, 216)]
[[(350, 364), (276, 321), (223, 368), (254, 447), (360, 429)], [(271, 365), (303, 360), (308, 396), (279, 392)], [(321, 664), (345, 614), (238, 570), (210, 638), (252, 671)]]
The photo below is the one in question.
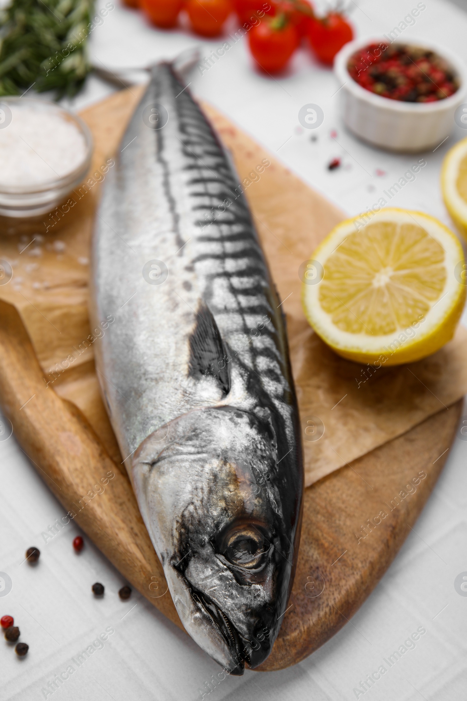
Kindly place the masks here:
[(201, 302), (197, 324), (190, 336), (190, 375), (212, 375), (221, 385), (224, 395), (230, 392), (230, 365), (221, 332), (209, 307)]

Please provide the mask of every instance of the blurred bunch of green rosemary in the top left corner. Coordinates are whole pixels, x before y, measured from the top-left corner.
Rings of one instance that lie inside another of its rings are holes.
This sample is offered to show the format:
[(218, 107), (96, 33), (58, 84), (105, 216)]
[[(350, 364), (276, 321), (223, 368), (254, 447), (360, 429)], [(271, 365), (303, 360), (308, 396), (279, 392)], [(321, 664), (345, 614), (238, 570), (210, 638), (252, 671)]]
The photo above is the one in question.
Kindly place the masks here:
[(0, 95), (76, 95), (91, 69), (92, 11), (93, 0), (12, 0), (0, 13)]

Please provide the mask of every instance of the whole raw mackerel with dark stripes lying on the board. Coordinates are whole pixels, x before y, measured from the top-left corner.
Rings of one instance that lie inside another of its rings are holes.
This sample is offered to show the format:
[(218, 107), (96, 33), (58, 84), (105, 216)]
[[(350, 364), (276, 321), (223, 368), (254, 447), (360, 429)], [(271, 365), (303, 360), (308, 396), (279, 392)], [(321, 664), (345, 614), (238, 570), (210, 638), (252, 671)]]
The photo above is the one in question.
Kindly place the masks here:
[(170, 64), (152, 69), (104, 182), (92, 320), (115, 322), (96, 344), (97, 371), (181, 621), (242, 674), (267, 658), (287, 607), (300, 428), (249, 208), (183, 88)]

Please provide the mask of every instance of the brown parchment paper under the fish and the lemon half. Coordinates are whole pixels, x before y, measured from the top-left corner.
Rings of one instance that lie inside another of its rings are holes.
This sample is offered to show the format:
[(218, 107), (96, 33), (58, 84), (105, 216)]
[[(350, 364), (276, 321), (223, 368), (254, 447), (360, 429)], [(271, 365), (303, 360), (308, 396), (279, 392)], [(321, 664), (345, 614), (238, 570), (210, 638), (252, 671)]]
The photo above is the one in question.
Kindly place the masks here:
[[(18, 307), (44, 381), (80, 407), (118, 464), (121, 456), (99, 394), (88, 321), (89, 242), (105, 165), (113, 156), (141, 88), (83, 112), (95, 139), (87, 187), (74, 204), (30, 222), (0, 219), (0, 259), (13, 278), (0, 297)], [(417, 363), (370, 371), (335, 355), (307, 324), (300, 264), (344, 217), (209, 105), (232, 151), (286, 313), (298, 393), (307, 486), (391, 440), (467, 392), (467, 331)], [(258, 173), (264, 159), (270, 163)], [(67, 211), (64, 211), (67, 210)]]

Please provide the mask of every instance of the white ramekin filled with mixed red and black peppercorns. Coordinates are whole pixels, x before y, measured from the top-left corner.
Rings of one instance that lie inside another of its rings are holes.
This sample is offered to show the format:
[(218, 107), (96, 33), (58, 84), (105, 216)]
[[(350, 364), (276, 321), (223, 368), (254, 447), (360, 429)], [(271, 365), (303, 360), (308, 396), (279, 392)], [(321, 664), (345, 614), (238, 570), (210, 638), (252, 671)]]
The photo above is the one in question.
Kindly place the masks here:
[(466, 100), (467, 68), (449, 50), (420, 39), (358, 39), (337, 54), (342, 118), (365, 142), (389, 151), (434, 149)]

